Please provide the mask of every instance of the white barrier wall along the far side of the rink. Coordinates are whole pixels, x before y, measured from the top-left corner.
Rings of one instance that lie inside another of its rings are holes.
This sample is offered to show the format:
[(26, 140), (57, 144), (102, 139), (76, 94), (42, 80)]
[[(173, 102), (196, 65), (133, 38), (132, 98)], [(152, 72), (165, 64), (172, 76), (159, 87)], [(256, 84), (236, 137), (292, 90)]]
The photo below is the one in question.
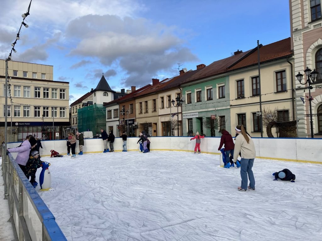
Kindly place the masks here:
[[(191, 137), (151, 137), (151, 150), (174, 150), (174, 151), (194, 151), (196, 141)], [(321, 163), (322, 139), (309, 138), (252, 138), (256, 147), (258, 158)], [(137, 141), (139, 138), (131, 137), (127, 140), (128, 151), (139, 149)], [(103, 152), (102, 139), (85, 139), (83, 153)], [(218, 154), (220, 137), (205, 137), (201, 139), (201, 152)], [(20, 143), (8, 143), (8, 148), (17, 147)], [(66, 140), (46, 140), (42, 141), (43, 149), (40, 149), (41, 156), (50, 155), (50, 150), (54, 149), (62, 155), (66, 155)], [(115, 138), (114, 150), (122, 151), (122, 138)], [(78, 141), (76, 144), (76, 154), (79, 152)], [(14, 158), (16, 153), (12, 153)]]

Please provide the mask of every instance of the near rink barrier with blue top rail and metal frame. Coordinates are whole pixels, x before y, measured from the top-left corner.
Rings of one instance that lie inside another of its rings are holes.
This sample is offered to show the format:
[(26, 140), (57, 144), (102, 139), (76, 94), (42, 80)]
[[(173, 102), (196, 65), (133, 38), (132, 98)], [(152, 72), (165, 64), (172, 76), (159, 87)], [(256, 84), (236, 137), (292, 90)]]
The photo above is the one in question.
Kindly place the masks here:
[[(9, 145), (8, 145), (8, 148)], [(5, 199), (15, 240), (67, 241), (55, 217), (31, 185), (11, 153), (2, 149)]]

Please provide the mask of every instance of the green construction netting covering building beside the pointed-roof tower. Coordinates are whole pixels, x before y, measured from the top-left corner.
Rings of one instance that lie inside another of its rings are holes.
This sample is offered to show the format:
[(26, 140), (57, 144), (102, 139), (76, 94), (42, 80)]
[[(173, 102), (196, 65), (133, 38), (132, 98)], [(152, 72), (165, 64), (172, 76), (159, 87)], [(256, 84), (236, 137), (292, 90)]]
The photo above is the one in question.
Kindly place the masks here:
[(93, 104), (78, 109), (78, 130), (92, 131), (93, 135), (100, 133), (100, 129), (106, 129), (106, 108), (102, 104)]

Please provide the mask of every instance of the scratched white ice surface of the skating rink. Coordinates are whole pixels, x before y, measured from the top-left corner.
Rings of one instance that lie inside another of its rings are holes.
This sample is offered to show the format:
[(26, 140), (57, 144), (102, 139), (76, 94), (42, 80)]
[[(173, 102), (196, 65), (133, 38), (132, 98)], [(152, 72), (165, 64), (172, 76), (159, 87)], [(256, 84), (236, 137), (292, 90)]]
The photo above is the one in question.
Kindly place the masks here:
[[(52, 189), (36, 188), (70, 241), (321, 240), (322, 165), (255, 159), (256, 190), (240, 192), (218, 155), (76, 156), (43, 157)], [(273, 181), (284, 168), (295, 183)]]

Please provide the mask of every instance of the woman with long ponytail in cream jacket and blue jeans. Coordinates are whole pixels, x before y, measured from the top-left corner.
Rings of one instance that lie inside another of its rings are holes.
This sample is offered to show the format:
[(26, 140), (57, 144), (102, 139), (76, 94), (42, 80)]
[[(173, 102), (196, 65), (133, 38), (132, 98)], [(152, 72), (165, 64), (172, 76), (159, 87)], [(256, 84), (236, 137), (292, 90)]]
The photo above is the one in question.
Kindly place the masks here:
[[(238, 136), (235, 141), (234, 160), (237, 160), (239, 152), (241, 152), (241, 177), (242, 185), (238, 187), (239, 191), (247, 192), (247, 183), (249, 179), (248, 189), (255, 190), (255, 178), (251, 168), (254, 164), (256, 150), (253, 140), (246, 134), (243, 125), (238, 125), (235, 128)], [(248, 175), (248, 177), (247, 177)]]

